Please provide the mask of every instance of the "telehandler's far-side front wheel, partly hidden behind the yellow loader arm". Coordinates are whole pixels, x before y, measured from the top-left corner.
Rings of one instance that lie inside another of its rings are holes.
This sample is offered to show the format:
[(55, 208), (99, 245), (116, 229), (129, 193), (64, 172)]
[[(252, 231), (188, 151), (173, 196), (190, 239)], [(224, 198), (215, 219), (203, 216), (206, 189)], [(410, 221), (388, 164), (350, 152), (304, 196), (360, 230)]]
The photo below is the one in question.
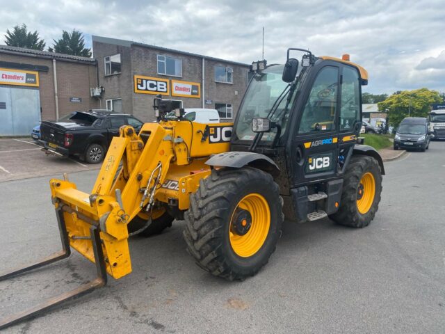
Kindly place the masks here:
[[(145, 212), (140, 212), (138, 216), (134, 217), (127, 225), (128, 232), (133, 233), (147, 225), (149, 215)], [(175, 220), (164, 208), (155, 209), (152, 212), (152, 223), (150, 223), (144, 230), (140, 231), (138, 235), (141, 237), (152, 237), (156, 234), (161, 234), (165, 228), (170, 228), (172, 222)]]

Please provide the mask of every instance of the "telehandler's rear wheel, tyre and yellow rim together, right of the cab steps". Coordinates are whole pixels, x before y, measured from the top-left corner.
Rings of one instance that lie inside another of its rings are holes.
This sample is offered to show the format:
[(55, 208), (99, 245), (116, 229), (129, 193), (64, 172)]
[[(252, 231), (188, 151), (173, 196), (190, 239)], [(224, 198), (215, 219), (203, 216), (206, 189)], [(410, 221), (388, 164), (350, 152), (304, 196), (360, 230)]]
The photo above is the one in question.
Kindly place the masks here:
[(340, 225), (364, 228), (378, 210), (382, 174), (377, 160), (357, 155), (346, 168), (339, 211), (330, 217)]

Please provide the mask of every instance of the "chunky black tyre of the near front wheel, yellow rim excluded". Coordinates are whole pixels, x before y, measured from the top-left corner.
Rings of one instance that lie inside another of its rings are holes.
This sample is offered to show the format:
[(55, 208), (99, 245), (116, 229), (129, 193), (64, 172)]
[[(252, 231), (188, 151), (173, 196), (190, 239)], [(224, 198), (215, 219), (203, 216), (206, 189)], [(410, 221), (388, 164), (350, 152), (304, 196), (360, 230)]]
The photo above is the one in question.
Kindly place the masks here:
[[(238, 202), (250, 194), (259, 194), (266, 200), (270, 225), (256, 253), (241, 257), (235, 253), (229, 233)], [(272, 176), (251, 167), (212, 170), (209, 177), (200, 181), (200, 188), (191, 194), (190, 200), (184, 214), (184, 239), (199, 267), (227, 280), (244, 280), (268, 262), (281, 236), (284, 219), (280, 188)]]

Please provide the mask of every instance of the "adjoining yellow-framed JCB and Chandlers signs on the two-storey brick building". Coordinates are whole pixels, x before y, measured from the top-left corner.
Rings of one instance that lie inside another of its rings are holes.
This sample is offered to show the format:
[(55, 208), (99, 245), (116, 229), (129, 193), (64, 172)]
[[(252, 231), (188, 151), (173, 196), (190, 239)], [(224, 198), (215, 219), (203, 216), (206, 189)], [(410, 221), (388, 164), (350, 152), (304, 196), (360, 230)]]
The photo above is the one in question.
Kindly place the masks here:
[[(201, 84), (171, 80), (171, 96), (201, 98)], [(170, 80), (143, 75), (134, 76), (134, 93), (170, 95)]]

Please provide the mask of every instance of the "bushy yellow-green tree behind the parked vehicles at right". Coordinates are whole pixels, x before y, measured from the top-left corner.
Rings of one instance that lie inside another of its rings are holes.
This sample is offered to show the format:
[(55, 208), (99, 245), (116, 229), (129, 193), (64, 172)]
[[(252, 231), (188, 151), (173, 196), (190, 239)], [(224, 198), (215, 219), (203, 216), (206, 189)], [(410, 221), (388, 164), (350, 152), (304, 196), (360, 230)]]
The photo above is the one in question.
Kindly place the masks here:
[(387, 100), (378, 103), (378, 110), (388, 111), (391, 125), (398, 126), (405, 117), (426, 117), (431, 104), (442, 102), (439, 92), (420, 88), (396, 92)]

